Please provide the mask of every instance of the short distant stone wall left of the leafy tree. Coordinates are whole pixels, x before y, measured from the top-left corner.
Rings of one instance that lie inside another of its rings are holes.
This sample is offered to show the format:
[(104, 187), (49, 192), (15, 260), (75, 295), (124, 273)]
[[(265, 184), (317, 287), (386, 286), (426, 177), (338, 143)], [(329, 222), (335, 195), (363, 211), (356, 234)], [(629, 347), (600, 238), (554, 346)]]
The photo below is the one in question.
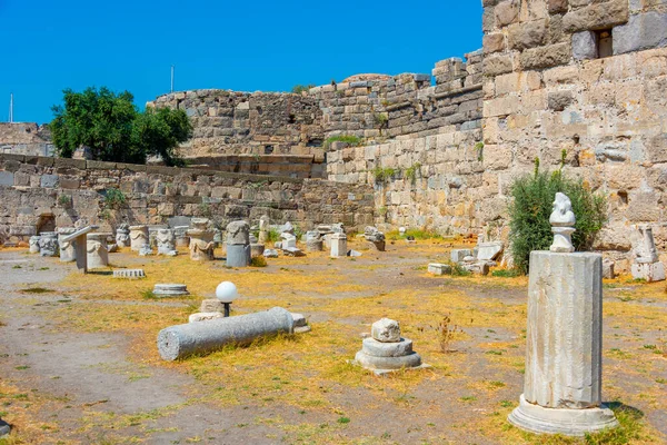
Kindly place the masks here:
[(53, 156), (51, 132), (34, 122), (0, 122), (0, 154)]

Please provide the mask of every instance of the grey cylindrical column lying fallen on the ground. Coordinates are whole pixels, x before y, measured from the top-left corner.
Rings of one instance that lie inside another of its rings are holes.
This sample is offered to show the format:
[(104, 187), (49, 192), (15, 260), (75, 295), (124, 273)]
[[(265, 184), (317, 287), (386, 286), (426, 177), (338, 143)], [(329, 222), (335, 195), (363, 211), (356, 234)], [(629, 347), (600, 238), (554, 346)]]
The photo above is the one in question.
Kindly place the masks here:
[(293, 320), (289, 310), (275, 307), (237, 317), (170, 326), (158, 334), (158, 350), (163, 359), (176, 360), (211, 353), (229, 344), (247, 345), (259, 337), (292, 332)]

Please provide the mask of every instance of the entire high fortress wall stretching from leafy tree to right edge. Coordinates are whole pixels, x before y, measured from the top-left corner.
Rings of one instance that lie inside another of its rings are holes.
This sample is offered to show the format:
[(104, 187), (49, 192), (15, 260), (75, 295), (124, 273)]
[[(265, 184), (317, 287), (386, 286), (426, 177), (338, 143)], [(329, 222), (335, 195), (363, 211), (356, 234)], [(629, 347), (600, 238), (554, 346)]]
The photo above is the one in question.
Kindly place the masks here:
[[(629, 226), (667, 248), (667, 1), (484, 0), (484, 48), (432, 76), (359, 75), (300, 95), (196, 90), (192, 167), (375, 188), (375, 222), (507, 236), (508, 187), (541, 168), (608, 196), (596, 248), (627, 259)], [(323, 142), (362, 138), (360, 147)], [(619, 264), (624, 268), (624, 264)]]

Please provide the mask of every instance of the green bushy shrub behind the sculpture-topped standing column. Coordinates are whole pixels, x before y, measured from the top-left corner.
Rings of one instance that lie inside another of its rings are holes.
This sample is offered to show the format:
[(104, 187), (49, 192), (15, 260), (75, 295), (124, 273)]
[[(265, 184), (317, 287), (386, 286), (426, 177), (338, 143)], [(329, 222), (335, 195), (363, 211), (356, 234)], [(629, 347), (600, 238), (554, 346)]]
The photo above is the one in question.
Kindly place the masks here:
[[(565, 161), (565, 152), (563, 154)], [(516, 179), (510, 186), (509, 205), (511, 254), (522, 274), (529, 269), (530, 251), (548, 250), (554, 240), (549, 216), (556, 192), (567, 195), (577, 217), (573, 235), (576, 250), (590, 249), (595, 236), (607, 220), (607, 201), (595, 195), (581, 180), (567, 178), (563, 165), (551, 174), (539, 171), (539, 159), (535, 161), (535, 172)]]

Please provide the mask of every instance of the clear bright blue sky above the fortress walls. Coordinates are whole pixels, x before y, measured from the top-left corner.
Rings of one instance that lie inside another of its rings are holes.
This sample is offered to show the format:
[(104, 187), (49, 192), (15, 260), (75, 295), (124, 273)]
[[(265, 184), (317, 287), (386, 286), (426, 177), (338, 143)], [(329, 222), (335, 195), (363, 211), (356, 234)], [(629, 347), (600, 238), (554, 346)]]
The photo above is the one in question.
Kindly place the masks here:
[(0, 121), (48, 122), (62, 90), (288, 91), (361, 72), (430, 73), (481, 47), (481, 0), (0, 0)]

